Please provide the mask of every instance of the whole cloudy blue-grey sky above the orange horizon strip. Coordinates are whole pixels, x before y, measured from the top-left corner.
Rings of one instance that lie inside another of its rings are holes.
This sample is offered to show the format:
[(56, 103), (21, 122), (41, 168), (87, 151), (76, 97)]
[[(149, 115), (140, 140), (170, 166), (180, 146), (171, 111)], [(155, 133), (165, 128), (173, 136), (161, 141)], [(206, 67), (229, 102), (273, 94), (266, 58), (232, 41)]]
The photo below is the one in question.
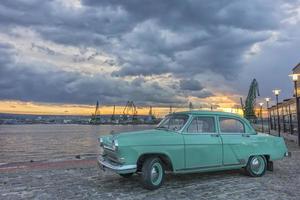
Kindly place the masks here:
[(288, 98), (299, 32), (300, 1), (1, 0), (0, 105)]

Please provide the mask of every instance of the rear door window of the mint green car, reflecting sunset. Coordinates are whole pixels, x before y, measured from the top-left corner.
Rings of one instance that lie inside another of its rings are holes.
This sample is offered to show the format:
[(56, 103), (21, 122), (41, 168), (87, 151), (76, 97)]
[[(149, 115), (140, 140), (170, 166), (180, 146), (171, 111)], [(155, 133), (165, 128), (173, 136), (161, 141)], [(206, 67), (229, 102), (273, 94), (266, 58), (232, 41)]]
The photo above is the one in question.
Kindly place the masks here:
[(220, 117), (219, 121), (222, 133), (245, 133), (245, 126), (238, 119)]

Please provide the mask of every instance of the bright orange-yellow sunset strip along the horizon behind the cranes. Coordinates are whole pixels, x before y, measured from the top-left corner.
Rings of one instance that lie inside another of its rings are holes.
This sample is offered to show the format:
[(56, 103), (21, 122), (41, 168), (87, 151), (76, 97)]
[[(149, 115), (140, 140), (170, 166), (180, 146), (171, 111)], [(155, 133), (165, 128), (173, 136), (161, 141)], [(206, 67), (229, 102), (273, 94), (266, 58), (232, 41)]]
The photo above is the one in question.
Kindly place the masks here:
[[(224, 97), (221, 97), (224, 98)], [(226, 98), (225, 98), (226, 99)], [(209, 99), (208, 99), (209, 100)], [(206, 104), (205, 104), (206, 105)], [(234, 107), (234, 103), (221, 104), (224, 107), (214, 107), (215, 111), (225, 111), (242, 114), (238, 107)], [(115, 114), (123, 114), (125, 105), (116, 105)], [(232, 106), (232, 107), (230, 107)], [(112, 114), (113, 106), (100, 106), (100, 114)], [(148, 115), (149, 106), (137, 106), (137, 114)], [(173, 112), (186, 111), (187, 107), (172, 107)], [(210, 107), (194, 107), (195, 110), (210, 110)], [(168, 114), (170, 107), (153, 106), (152, 113), (154, 116), (163, 117)], [(81, 105), (81, 104), (47, 104), (23, 101), (0, 101), (0, 113), (11, 114), (34, 114), (34, 115), (84, 115), (90, 116), (95, 112), (95, 105)]]

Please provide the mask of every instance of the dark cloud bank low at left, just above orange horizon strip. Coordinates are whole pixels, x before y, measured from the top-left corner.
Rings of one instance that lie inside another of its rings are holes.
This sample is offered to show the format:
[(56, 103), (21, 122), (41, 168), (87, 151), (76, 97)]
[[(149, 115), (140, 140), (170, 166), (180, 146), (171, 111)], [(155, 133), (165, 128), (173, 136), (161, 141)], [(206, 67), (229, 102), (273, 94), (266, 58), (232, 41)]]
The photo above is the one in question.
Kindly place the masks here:
[(102, 74), (87, 76), (60, 70), (35, 70), (15, 63), (7, 48), (0, 45), (0, 99), (83, 104), (92, 104), (96, 99), (104, 104), (135, 100), (143, 105), (185, 102), (175, 91), (157, 83), (148, 84), (142, 78), (130, 82)]

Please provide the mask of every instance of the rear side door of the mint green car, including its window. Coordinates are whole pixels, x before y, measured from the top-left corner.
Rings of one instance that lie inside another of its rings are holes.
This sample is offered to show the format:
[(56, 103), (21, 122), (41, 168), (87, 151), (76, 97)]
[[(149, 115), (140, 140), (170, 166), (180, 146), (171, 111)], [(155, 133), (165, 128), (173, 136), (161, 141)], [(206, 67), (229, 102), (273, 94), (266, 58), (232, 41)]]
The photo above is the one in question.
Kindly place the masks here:
[(219, 132), (223, 142), (223, 165), (244, 165), (253, 151), (247, 124), (237, 117), (220, 116)]

